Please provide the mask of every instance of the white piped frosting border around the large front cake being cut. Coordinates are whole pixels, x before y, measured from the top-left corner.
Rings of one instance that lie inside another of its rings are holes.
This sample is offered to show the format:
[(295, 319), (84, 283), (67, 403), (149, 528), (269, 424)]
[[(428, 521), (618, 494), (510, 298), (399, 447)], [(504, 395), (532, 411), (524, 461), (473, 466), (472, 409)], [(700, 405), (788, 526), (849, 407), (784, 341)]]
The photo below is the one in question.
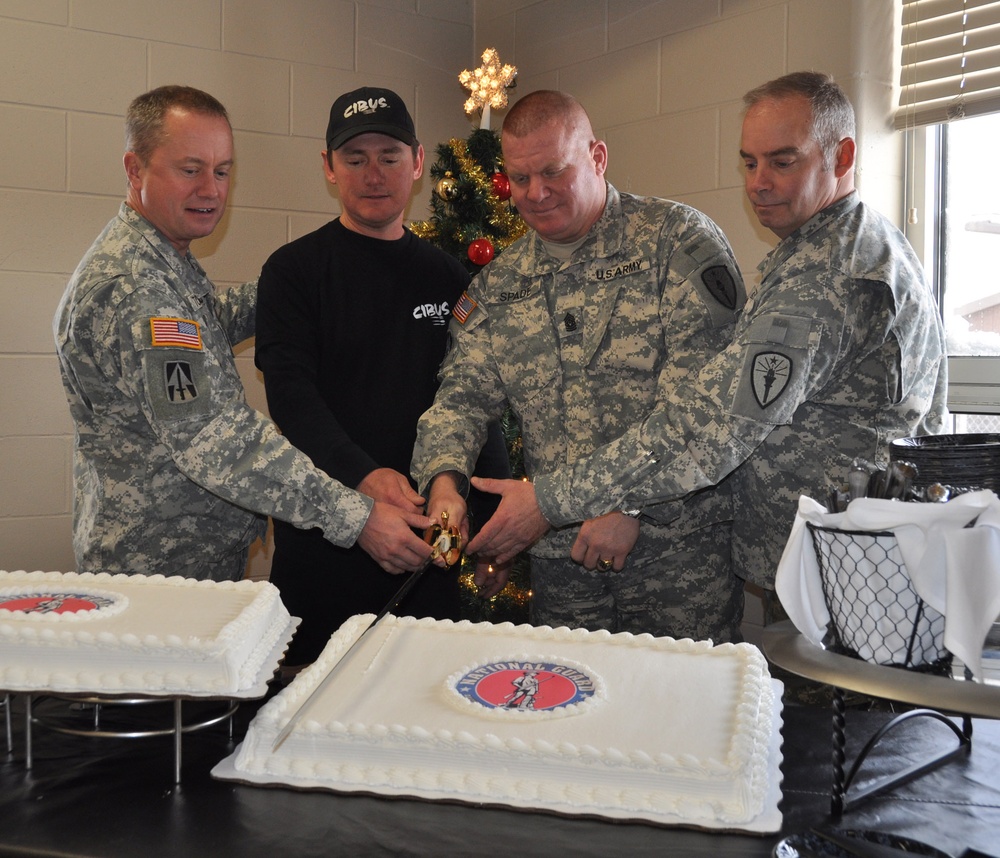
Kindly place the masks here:
[[(714, 820), (724, 824), (739, 825), (760, 814), (770, 789), (768, 776), (769, 753), (775, 706), (774, 687), (767, 670), (767, 662), (760, 651), (751, 644), (719, 644), (711, 641), (675, 640), (654, 638), (648, 634), (632, 635), (627, 632), (612, 635), (607, 631), (591, 632), (586, 629), (569, 629), (549, 626), (514, 626), (512, 623), (492, 625), (473, 624), (468, 620), (458, 623), (450, 620), (417, 620), (412, 617), (387, 617), (400, 625), (441, 624), (455, 626), (475, 633), (517, 633), (532, 642), (545, 640), (607, 639), (615, 644), (642, 649), (662, 649), (678, 653), (701, 653), (730, 656), (735, 654), (743, 665), (741, 671), (742, 693), (735, 701), (736, 726), (733, 741), (724, 760), (698, 759), (687, 754), (655, 754), (641, 751), (622, 752), (615, 747), (604, 749), (576, 746), (568, 742), (552, 743), (545, 740), (503, 739), (486, 733), (475, 736), (468, 731), (427, 729), (418, 725), (400, 724), (367, 725), (344, 724), (332, 721), (320, 724), (308, 717), (297, 730), (322, 741), (324, 736), (335, 742), (364, 743), (396, 746), (401, 749), (430, 749), (435, 747), (459, 753), (501, 753), (509, 759), (544, 761), (573, 761), (594, 770), (632, 769), (638, 775), (654, 777), (702, 779), (707, 784), (738, 778), (736, 789), (728, 798), (723, 796), (695, 796), (669, 794), (663, 790), (647, 788), (620, 789), (600, 785), (583, 786), (569, 782), (538, 782), (525, 784), (516, 778), (494, 775), (429, 773), (419, 765), (382, 766), (340, 763), (335, 759), (289, 759), (270, 752), (273, 737), (287, 723), (301, 702), (332, 668), (342, 653), (358, 636), (359, 631), (371, 621), (373, 615), (353, 617), (341, 627), (331, 645), (310, 668), (277, 697), (268, 701), (257, 713), (240, 751), (236, 757), (237, 770), (255, 776), (270, 775), (292, 782), (316, 779), (335, 788), (386, 789), (400, 794), (426, 793), (437, 797), (455, 796), (470, 800), (492, 799), (526, 802), (531, 805), (544, 802), (549, 806), (565, 806), (577, 812), (598, 812), (610, 807), (626, 814), (667, 814), (692, 821)], [(536, 644), (537, 646), (537, 644)], [(470, 705), (475, 705), (471, 704)], [(514, 714), (514, 713), (510, 713)], [(284, 746), (287, 752), (292, 743)], [(737, 775), (737, 773), (739, 773)]]

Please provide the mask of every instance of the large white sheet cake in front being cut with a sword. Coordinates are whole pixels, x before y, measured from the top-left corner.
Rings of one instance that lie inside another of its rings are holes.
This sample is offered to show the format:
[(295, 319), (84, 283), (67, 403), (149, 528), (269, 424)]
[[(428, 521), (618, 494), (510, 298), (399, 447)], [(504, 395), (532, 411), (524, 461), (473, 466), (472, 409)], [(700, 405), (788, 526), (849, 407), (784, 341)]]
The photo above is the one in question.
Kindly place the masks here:
[[(666, 824), (780, 826), (780, 699), (748, 644), (353, 617), (223, 777)], [(275, 739), (336, 665), (295, 729)]]

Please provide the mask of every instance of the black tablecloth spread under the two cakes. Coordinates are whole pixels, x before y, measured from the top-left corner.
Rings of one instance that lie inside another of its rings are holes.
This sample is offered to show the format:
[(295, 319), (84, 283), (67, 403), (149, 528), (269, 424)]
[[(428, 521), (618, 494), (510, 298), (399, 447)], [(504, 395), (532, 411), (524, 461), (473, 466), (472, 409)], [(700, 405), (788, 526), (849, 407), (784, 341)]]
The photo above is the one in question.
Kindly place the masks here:
[[(22, 707), (16, 697), (14, 753), (4, 756), (0, 745), (0, 855), (766, 856), (785, 835), (829, 821), (831, 711), (823, 707), (785, 707), (784, 824), (780, 834), (767, 836), (213, 779), (211, 768), (233, 751), (254, 703), (240, 707), (235, 741), (224, 725), (184, 736), (179, 785), (170, 738), (67, 736), (41, 725), (32, 731), (28, 771)], [(847, 712), (848, 764), (889, 717)], [(905, 835), (956, 856), (967, 847), (1000, 854), (1000, 722), (973, 724), (968, 756), (865, 801), (845, 814), (841, 827)], [(913, 719), (878, 744), (858, 785), (928, 747), (954, 743), (944, 725)]]

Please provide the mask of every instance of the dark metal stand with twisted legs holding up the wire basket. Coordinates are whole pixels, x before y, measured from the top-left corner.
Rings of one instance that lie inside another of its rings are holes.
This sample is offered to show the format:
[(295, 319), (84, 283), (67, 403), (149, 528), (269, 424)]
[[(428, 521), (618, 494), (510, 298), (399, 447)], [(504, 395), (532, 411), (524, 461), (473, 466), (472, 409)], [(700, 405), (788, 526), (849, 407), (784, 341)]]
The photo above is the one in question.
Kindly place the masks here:
[[(822, 682), (833, 688), (833, 788), (831, 813), (839, 817), (845, 810), (878, 793), (913, 780), (938, 766), (967, 754), (972, 746), (972, 717), (1000, 718), (1000, 687), (977, 682), (934, 676), (914, 670), (885, 667), (861, 659), (825, 650), (802, 636), (790, 620), (764, 629), (761, 645), (767, 658), (790, 673)], [(867, 743), (849, 774), (844, 774), (844, 691), (900, 703), (930, 707), (904, 712), (886, 724)], [(942, 713), (962, 716), (959, 729)], [(925, 717), (940, 721), (958, 740), (954, 748), (937, 752), (895, 775), (858, 790), (849, 800), (847, 791), (868, 752), (889, 730), (899, 724)]]

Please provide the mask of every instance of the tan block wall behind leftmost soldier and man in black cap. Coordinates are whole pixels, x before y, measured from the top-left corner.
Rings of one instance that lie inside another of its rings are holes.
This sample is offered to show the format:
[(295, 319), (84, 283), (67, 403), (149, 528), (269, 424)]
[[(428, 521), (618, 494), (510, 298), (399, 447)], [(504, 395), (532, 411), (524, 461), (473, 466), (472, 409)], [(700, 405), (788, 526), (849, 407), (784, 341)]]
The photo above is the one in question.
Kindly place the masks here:
[[(74, 568), (72, 425), (51, 320), (124, 194), (129, 101), (184, 83), (229, 109), (229, 211), (194, 245), (224, 286), (336, 213), (319, 152), (341, 92), (395, 89), (431, 152), (466, 135), (457, 74), (472, 43), (472, 0), (0, 0), (0, 569)], [(429, 195), (424, 179), (412, 217)], [(263, 409), (246, 346), (240, 365)], [(254, 573), (266, 568), (256, 557)]]

